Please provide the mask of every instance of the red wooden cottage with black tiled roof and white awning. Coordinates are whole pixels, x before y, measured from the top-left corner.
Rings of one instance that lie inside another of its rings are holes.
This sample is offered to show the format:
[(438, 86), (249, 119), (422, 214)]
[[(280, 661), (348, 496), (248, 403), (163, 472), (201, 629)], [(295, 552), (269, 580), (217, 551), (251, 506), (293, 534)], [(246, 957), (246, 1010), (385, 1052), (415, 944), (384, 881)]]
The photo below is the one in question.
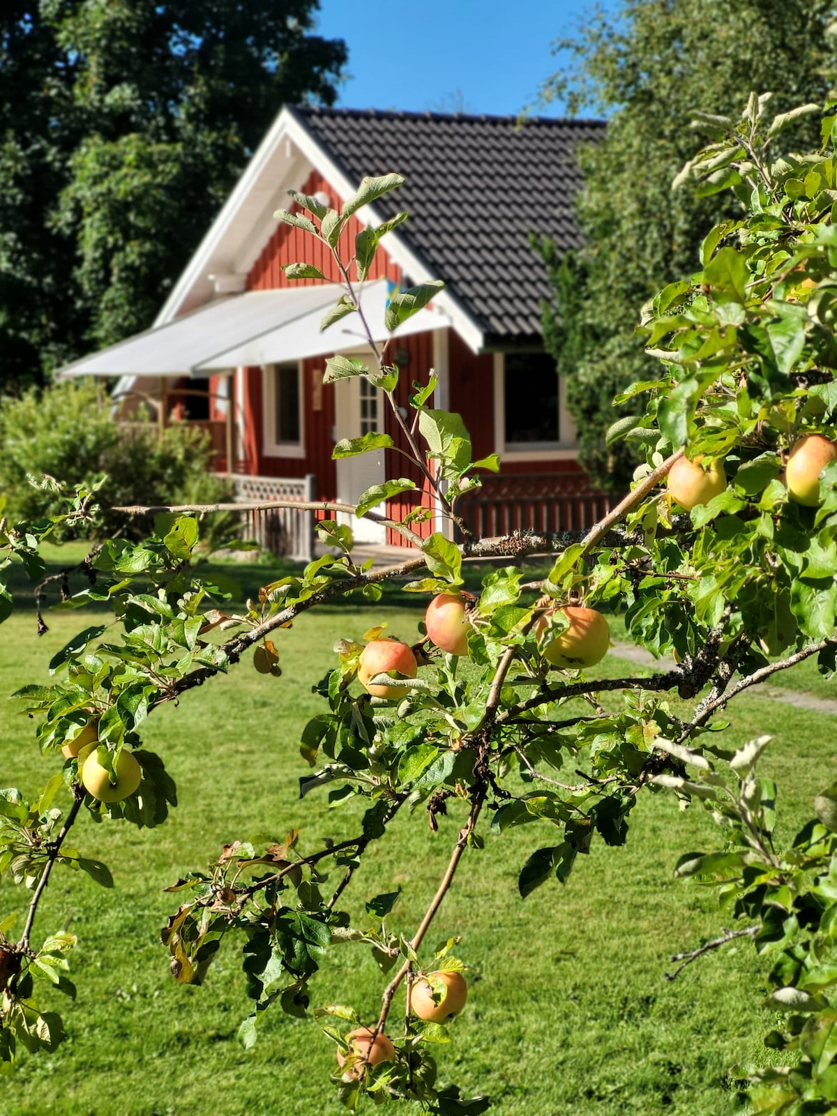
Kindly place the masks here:
[[(501, 473), (483, 474), (463, 514), (481, 533), (588, 526), (605, 498), (578, 465), (564, 384), (543, 353), (547, 276), (529, 237), (578, 246), (574, 147), (600, 128), (589, 121), (519, 126), (514, 117), (287, 107), (154, 327), (61, 375), (118, 375), (115, 395), (126, 406), (144, 398), (162, 422), (204, 425), (218, 468), (232, 475), (241, 499), (354, 503), (371, 484), (403, 475), (404, 459), (392, 451), (331, 460), (341, 437), (383, 429), (397, 443), (398, 431), (366, 379), (323, 385), (326, 357), (363, 356), (366, 345), (355, 316), (319, 331), (339, 277), (311, 238), (273, 218), (288, 206), (289, 189), (338, 206), (364, 175), (398, 171), (405, 185), (352, 218), (346, 256), (365, 223), (410, 213), (384, 238), (366, 285), (367, 316), (382, 340), (388, 291), (446, 283), (401, 327), (387, 355), (403, 369), (404, 394), (434, 368), (432, 405), (462, 414), (474, 459), (500, 454)], [(316, 263), (329, 282), (289, 280), (282, 264), (298, 261)], [(419, 490), (391, 501), (388, 514), (401, 518), (416, 501), (431, 506)], [(371, 521), (353, 526), (363, 541), (401, 541)], [(421, 526), (424, 535), (437, 529), (441, 521)]]

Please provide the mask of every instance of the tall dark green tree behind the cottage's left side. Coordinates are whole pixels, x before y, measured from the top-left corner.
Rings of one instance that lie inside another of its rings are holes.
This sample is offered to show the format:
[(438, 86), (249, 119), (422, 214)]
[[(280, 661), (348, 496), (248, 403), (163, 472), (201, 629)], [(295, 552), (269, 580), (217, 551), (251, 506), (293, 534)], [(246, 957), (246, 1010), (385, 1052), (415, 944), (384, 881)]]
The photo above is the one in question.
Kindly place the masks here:
[(285, 103), (333, 104), (318, 0), (4, 0), (0, 386), (151, 324)]

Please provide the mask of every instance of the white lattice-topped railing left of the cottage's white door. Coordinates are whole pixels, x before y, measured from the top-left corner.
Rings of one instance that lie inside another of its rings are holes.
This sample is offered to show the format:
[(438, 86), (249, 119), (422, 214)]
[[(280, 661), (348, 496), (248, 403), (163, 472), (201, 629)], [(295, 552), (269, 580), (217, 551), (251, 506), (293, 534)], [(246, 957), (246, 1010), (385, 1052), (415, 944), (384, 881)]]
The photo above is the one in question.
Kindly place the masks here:
[[(268, 503), (271, 500), (294, 500), (308, 503), (316, 499), (314, 473), (306, 477), (233, 475), (237, 503)], [(310, 561), (314, 558), (314, 512), (295, 508), (271, 508), (269, 511), (242, 511), (241, 531), (246, 539), (256, 539), (260, 547), (275, 555)]]

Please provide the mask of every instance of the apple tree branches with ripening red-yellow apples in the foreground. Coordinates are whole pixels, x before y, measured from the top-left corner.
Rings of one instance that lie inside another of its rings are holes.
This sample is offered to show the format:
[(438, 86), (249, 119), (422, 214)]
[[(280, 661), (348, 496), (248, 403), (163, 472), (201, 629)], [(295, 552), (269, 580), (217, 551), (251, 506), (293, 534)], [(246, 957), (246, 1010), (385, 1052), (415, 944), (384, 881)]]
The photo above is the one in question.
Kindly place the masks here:
[[(238, 951), (253, 1001), (240, 1030), (246, 1046), (257, 1041), (267, 1011), (311, 1016), (335, 1043), (333, 1083), (348, 1108), (403, 1099), (429, 1113), (483, 1112), (489, 1098), (443, 1084), (444, 1058), (437, 1066), (434, 1054), (444, 1050), (446, 1024), (466, 998), (458, 940), (427, 945), (458, 873), (479, 870), (485, 843), (528, 826), (520, 894), (556, 886), (584, 870), (593, 841), (626, 841), (643, 796), (673, 793), (708, 808), (719, 838), (716, 848), (689, 852), (672, 867), (718, 888), (731, 927), (684, 953), (683, 965), (749, 939), (769, 970), (768, 1003), (781, 1023), (764, 1039), (777, 1051), (775, 1065), (740, 1069), (753, 1109), (837, 1110), (837, 783), (822, 788), (800, 833), (780, 840), (777, 788), (759, 773), (769, 737), (733, 750), (719, 720), (738, 694), (806, 658), (827, 676), (837, 667), (835, 116), (826, 110), (820, 151), (793, 155), (781, 146), (785, 127), (820, 106), (776, 117), (768, 109), (769, 95), (753, 95), (738, 119), (699, 122), (710, 142), (677, 185), (731, 190), (741, 215), (709, 233), (698, 275), (671, 283), (643, 310), (658, 376), (617, 400), (636, 401), (636, 413), (610, 437), (642, 448), (645, 463), (591, 530), (474, 537), (460, 498), (497, 460), (472, 461), (460, 416), (430, 405), (432, 371), (413, 384), (403, 415), (394, 398), (402, 373), (369, 336), (375, 363), (334, 357), (326, 382), (366, 376), (381, 388), (404, 452), (460, 541), (442, 531), (423, 540), (415, 516), (392, 522), (373, 510), (414, 487), (400, 478), (350, 510), (401, 532), (412, 545), (403, 561), (385, 569), (358, 564), (350, 529), (325, 519), (326, 555), (263, 586), (240, 615), (196, 557), (196, 516), (218, 506), (125, 509), (155, 512), (154, 533), (141, 542), (106, 540), (70, 576), (74, 591), (67, 585), (65, 596), (79, 607), (108, 602), (118, 628), (84, 628), (50, 663), (59, 681), (16, 695), (40, 718), (38, 747), (55, 754), (56, 772), (37, 801), (0, 792), (0, 872), (31, 893), (22, 926), (11, 917), (0, 923), (6, 1062), (20, 1046), (52, 1050), (62, 1038), (58, 1016), (39, 1007), (41, 989), (73, 991), (75, 940), (38, 920), (51, 874), (81, 870), (110, 883), (95, 849), (76, 848), (70, 831), (89, 816), (156, 826), (176, 804), (165, 757), (142, 747), (143, 722), (185, 691), (241, 670), (246, 655), (266, 685), (281, 686), (270, 675), (280, 674), (282, 628), (310, 608), (359, 594), (369, 632), (363, 644), (338, 644), (334, 668), (316, 681), (321, 712), (304, 732), (300, 760), (304, 797), (363, 804), (357, 833), (318, 845), (305, 833), (285, 836), (281, 818), (270, 818), (273, 839), (254, 845), (230, 835), (209, 870), (172, 882), (179, 905), (162, 940), (174, 979), (201, 983), (221, 951)], [(294, 194), (295, 208), (278, 213), (339, 264), (345, 294), (326, 321), (357, 315), (365, 328), (364, 281), (379, 241), (404, 214), (360, 232), (350, 260), (340, 258), (340, 232), (353, 212), (401, 181), (365, 180), (340, 211)], [(305, 262), (288, 271), (321, 277)], [(389, 328), (439, 286), (397, 294)], [(386, 434), (365, 434), (340, 442), (335, 455), (391, 444)], [(68, 496), (64, 514), (84, 517), (95, 499)], [(3, 521), (6, 565), (22, 561), (38, 580), (38, 543), (60, 519)], [(538, 554), (557, 558), (546, 578), (525, 581), (516, 560)], [(463, 560), (471, 557), (509, 564), (473, 595), (463, 591)], [(382, 637), (376, 625), (382, 584), (405, 576), (412, 579), (404, 591), (429, 598), (426, 635), (412, 647)], [(6, 590), (0, 608), (3, 617), (11, 608)], [(600, 677), (603, 609), (624, 613), (631, 638), (655, 655), (674, 653), (676, 667)], [(396, 815), (410, 812), (423, 826), (430, 818), (436, 828), (449, 809), (461, 824), (419, 924), (400, 924), (394, 887), (366, 896), (366, 914), (349, 918), (341, 896)], [(95, 844), (95, 829), (79, 830), (79, 843)], [(331, 950), (372, 951), (379, 1002), (328, 1002), (317, 974)], [(754, 1000), (753, 1010), (760, 1007)]]

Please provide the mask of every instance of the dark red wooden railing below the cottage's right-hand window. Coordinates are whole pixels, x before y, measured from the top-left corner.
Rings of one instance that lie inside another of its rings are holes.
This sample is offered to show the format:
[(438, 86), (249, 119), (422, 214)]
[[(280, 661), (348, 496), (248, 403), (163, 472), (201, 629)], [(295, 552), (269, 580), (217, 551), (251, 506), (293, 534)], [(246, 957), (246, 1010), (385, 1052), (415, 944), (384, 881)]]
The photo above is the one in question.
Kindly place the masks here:
[(590, 488), (584, 473), (510, 473), (483, 477), (482, 488), (460, 500), (459, 510), (479, 538), (512, 531), (587, 530), (612, 499)]

